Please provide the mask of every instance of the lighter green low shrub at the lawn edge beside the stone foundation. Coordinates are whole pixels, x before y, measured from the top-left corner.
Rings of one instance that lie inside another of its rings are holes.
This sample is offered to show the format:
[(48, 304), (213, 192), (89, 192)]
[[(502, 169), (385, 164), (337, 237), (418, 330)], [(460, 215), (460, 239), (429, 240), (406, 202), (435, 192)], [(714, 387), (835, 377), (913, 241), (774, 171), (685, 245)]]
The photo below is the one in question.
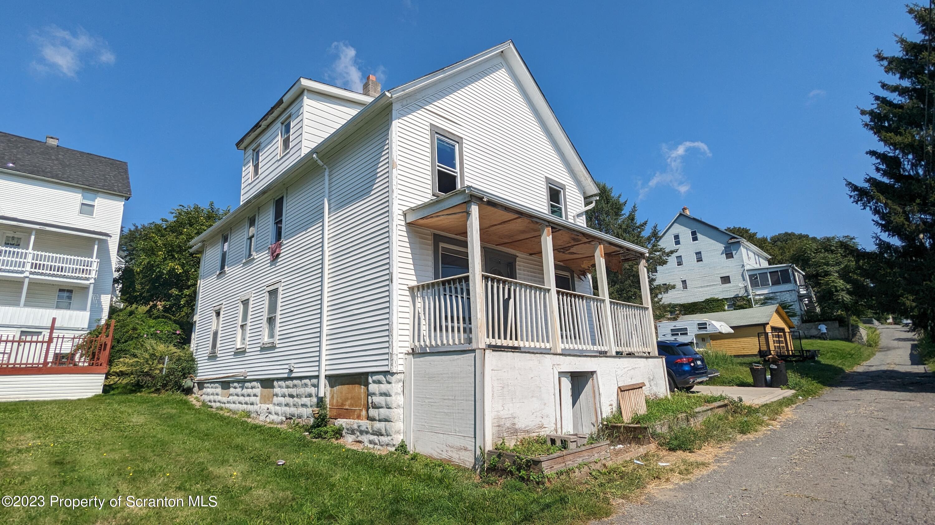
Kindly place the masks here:
[(176, 348), (150, 340), (135, 346), (127, 354), (111, 362), (104, 383), (108, 385), (109, 390), (181, 391), (185, 379), (194, 375), (195, 368), (194, 355), (187, 346)]

